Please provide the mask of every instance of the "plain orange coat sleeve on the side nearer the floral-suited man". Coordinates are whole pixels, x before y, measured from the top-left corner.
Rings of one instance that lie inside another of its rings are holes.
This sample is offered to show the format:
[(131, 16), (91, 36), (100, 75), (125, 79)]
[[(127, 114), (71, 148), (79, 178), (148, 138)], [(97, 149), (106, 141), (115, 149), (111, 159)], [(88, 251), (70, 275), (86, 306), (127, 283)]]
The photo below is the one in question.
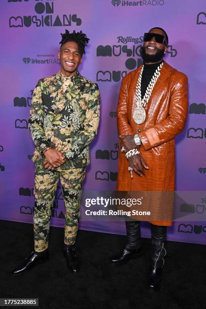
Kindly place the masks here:
[(134, 135), (127, 117), (127, 87), (129, 76), (122, 79), (117, 106), (117, 126), (120, 135)]

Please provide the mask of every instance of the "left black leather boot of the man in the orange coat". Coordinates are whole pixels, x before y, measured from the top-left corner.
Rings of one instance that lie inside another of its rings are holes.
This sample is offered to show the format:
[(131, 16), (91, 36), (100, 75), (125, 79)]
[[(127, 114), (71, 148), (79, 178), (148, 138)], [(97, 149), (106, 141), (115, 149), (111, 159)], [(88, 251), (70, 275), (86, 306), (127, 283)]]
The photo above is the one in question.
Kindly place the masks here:
[(127, 242), (122, 252), (110, 259), (113, 266), (121, 266), (141, 254), (141, 238), (139, 221), (125, 221)]

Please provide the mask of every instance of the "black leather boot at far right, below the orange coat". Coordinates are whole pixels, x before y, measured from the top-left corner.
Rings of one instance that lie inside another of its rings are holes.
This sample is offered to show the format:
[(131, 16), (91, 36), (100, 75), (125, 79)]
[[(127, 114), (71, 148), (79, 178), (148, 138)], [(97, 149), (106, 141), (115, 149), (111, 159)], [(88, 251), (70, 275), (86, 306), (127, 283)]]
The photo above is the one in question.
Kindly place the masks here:
[(162, 282), (163, 266), (166, 256), (165, 242), (167, 226), (151, 224), (151, 266), (148, 277), (148, 289), (155, 292), (160, 289)]

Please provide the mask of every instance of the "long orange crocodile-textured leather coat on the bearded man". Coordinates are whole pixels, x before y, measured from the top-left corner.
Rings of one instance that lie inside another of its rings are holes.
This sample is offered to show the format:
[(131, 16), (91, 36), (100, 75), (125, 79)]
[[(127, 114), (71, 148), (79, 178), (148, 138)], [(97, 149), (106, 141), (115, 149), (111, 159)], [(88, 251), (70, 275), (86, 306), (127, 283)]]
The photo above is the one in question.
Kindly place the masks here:
[[(135, 102), (135, 87), (140, 70), (141, 67), (130, 72), (122, 80), (117, 107), (117, 122), (119, 135), (139, 134), (142, 142), (140, 155), (149, 170), (145, 170), (145, 176), (142, 177), (133, 173), (132, 179), (128, 171), (129, 162), (125, 158), (125, 154), (119, 151), (117, 190), (174, 191), (174, 137), (184, 129), (186, 122), (187, 76), (165, 62), (146, 104), (146, 119), (143, 124), (137, 125), (132, 118), (132, 106)], [(173, 208), (173, 203), (170, 208)], [(151, 205), (150, 209), (152, 209)], [(153, 211), (155, 212), (156, 209)], [(171, 220), (150, 222), (156, 225), (172, 225)]]

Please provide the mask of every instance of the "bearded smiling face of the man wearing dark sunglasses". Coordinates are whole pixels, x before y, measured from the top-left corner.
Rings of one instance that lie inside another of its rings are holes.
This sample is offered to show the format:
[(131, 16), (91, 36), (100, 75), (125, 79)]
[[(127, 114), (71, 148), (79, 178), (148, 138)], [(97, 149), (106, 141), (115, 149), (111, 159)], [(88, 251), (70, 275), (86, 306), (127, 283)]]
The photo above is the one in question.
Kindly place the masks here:
[[(165, 35), (165, 33), (160, 30), (153, 28), (149, 33), (156, 33)], [(152, 37), (149, 41), (145, 41), (142, 47), (142, 57), (145, 63), (158, 63), (163, 60), (165, 53), (167, 52), (167, 46), (163, 43), (158, 43), (155, 37)]]

